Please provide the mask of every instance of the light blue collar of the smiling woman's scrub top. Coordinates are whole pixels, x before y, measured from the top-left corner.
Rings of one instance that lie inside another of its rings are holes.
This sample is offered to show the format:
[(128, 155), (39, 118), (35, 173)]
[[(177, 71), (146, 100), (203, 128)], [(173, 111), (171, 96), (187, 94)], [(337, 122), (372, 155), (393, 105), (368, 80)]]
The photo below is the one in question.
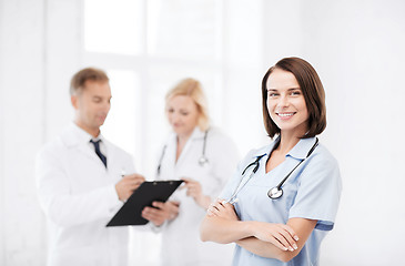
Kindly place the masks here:
[[(280, 136), (277, 136), (270, 145), (266, 145), (262, 149), (259, 149), (253, 155), (252, 158), (255, 158), (260, 155), (266, 154), (269, 155), (272, 151), (274, 145), (280, 141)], [(308, 137), (308, 139), (301, 139), (298, 143), (285, 155), (291, 156), (297, 160), (304, 160), (315, 144), (316, 137)]]

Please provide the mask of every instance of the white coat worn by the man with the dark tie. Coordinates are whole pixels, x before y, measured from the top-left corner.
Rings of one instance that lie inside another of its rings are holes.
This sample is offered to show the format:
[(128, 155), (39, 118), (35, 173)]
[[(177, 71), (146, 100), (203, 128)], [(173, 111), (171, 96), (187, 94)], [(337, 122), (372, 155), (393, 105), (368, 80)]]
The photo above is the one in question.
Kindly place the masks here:
[(49, 266), (125, 266), (128, 227), (105, 227), (122, 206), (115, 184), (132, 157), (102, 136), (108, 168), (91, 135), (71, 124), (37, 157), (37, 187), (48, 218)]

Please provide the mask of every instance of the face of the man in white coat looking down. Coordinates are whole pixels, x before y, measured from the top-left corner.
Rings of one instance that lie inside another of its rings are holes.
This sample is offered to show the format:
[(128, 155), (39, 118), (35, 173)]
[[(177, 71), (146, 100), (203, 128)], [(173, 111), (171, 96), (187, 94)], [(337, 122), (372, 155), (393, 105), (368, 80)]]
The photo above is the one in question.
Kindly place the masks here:
[(93, 136), (100, 133), (110, 111), (111, 90), (108, 82), (87, 81), (84, 88), (72, 95), (75, 109), (74, 122)]

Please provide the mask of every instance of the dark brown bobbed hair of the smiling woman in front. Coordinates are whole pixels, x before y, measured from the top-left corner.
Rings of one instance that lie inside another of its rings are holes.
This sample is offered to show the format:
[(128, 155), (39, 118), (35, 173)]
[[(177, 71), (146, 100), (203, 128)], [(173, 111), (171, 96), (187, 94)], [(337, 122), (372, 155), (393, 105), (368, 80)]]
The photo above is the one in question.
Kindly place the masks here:
[(300, 58), (284, 58), (270, 68), (262, 81), (262, 106), (264, 126), (270, 137), (280, 134), (279, 126), (270, 117), (267, 110), (267, 79), (275, 69), (291, 72), (298, 82), (308, 111), (308, 131), (302, 139), (321, 134), (326, 127), (325, 91), (315, 69)]

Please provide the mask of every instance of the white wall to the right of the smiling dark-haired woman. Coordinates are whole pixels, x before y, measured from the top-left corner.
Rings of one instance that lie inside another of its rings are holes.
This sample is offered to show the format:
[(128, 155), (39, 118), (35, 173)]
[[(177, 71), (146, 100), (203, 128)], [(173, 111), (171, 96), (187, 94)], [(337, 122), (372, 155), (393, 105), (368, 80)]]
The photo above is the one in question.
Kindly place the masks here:
[(323, 141), (338, 158), (343, 197), (324, 265), (405, 265), (405, 2), (305, 1), (303, 55), (327, 96)]

